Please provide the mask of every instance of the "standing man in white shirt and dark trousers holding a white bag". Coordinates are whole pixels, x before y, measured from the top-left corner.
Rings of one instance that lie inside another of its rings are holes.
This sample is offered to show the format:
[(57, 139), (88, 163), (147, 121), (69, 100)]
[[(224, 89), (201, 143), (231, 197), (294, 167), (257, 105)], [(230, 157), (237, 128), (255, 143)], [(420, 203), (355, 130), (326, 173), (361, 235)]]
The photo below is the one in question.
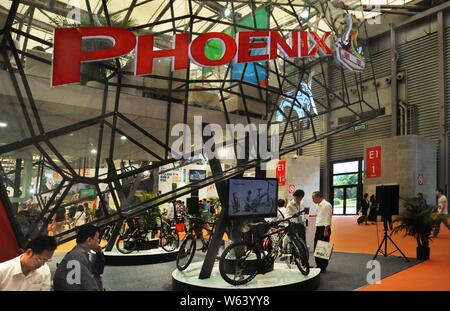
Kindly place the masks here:
[[(331, 236), (331, 217), (333, 215), (333, 206), (323, 198), (320, 191), (313, 192), (313, 202), (317, 204), (316, 215), (316, 234), (314, 236), (314, 249), (316, 249), (317, 241), (322, 240), (329, 242)], [(314, 257), (316, 265), (320, 268), (320, 272), (326, 272), (328, 260)]]

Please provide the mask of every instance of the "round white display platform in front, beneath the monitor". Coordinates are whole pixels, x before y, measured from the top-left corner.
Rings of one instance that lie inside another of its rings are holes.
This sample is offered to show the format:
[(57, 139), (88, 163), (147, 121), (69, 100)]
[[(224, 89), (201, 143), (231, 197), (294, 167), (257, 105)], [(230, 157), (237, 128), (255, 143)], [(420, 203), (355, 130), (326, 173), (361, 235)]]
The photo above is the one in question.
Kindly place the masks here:
[(172, 273), (173, 290), (316, 290), (320, 286), (320, 269), (311, 268), (304, 276), (297, 267), (289, 269), (284, 263), (275, 263), (274, 269), (266, 274), (258, 274), (245, 285), (234, 286), (220, 276), (219, 262), (214, 264), (211, 277), (200, 280), (203, 262), (194, 262), (186, 270), (175, 269)]

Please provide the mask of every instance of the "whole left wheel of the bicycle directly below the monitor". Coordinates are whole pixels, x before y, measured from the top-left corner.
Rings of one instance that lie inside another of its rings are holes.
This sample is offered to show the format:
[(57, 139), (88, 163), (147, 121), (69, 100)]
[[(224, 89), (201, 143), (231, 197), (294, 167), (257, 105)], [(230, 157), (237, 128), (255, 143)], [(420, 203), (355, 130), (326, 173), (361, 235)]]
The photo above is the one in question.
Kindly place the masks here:
[(219, 271), (222, 278), (232, 285), (250, 282), (258, 273), (261, 254), (250, 242), (238, 242), (229, 245), (222, 253)]

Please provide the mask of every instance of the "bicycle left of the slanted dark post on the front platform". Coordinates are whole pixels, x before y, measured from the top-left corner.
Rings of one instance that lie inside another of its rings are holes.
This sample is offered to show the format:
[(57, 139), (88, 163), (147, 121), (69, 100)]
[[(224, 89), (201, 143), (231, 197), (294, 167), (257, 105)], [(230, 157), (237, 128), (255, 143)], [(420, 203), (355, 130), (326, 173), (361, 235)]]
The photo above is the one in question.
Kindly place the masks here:
[[(180, 271), (185, 270), (191, 264), (196, 250), (201, 250), (202, 252), (208, 250), (214, 232), (215, 222), (208, 222), (192, 215), (186, 215), (184, 227), (186, 237), (184, 238), (183, 243), (181, 243), (177, 255), (177, 268)], [(207, 239), (205, 238), (205, 232)], [(197, 248), (196, 238), (201, 242), (199, 248)]]

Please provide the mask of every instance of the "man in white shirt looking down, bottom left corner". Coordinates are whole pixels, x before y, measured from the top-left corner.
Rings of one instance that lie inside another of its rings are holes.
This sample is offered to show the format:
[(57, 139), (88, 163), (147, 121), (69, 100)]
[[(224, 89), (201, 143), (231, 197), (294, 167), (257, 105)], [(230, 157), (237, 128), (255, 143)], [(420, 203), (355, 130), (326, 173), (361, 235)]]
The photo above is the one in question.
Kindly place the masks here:
[(22, 255), (0, 263), (0, 291), (49, 291), (51, 274), (46, 262), (55, 249), (55, 238), (40, 236), (28, 243)]

